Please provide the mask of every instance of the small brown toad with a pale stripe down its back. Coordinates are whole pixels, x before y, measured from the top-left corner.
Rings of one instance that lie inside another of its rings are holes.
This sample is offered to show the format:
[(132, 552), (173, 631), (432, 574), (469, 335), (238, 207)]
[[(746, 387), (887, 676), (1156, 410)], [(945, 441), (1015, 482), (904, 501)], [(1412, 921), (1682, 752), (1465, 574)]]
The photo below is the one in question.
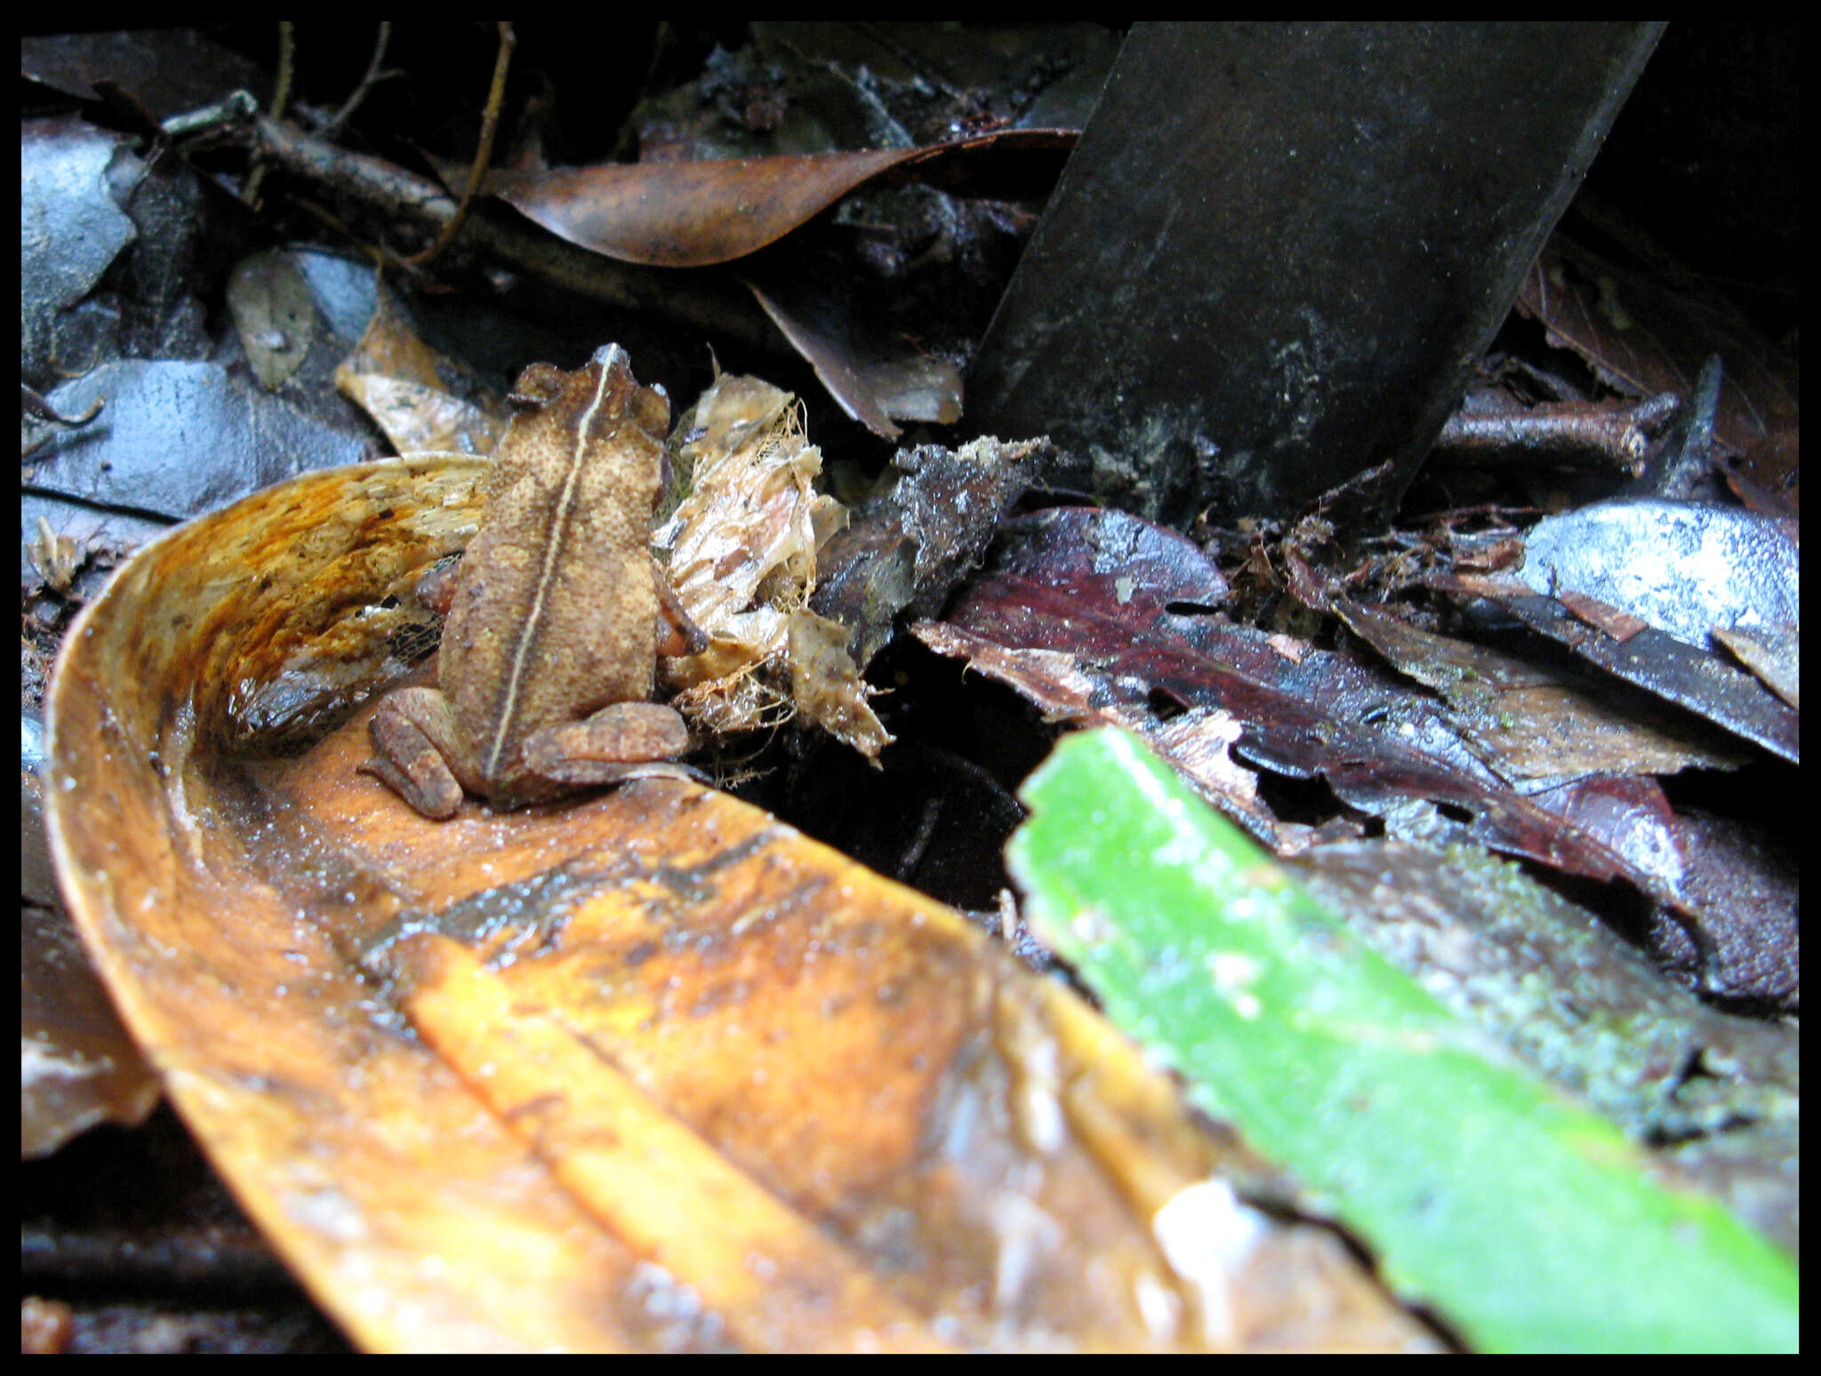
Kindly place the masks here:
[(514, 808), (681, 774), (657, 761), (688, 746), (646, 701), (659, 653), (707, 644), (650, 553), (670, 402), (617, 344), (574, 373), (532, 364), (510, 402), (481, 530), (443, 593), (439, 686), (381, 703), (362, 766), (426, 817), (452, 817), (464, 790)]

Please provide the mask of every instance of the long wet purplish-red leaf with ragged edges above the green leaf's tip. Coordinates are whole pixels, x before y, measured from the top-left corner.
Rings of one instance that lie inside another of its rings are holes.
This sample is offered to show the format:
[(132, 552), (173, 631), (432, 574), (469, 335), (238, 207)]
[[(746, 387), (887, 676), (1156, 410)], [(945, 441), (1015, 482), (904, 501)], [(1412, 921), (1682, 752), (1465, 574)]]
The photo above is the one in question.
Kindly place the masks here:
[[(1597, 877), (1623, 868), (1590, 837), (1561, 837), (1559, 821), (1510, 792), (1426, 693), (1333, 652), (1286, 655), (1262, 632), (1207, 615), (1226, 584), (1187, 539), (1093, 510), (1045, 511), (1009, 531), (1011, 553), (961, 595), (951, 626), (1071, 655), (1096, 703), (1231, 713), (1244, 724), (1235, 752), (1246, 761), (1322, 775), (1346, 803), (1400, 814), (1399, 825)], [(1473, 815), (1471, 826), (1435, 814), (1431, 801)]]

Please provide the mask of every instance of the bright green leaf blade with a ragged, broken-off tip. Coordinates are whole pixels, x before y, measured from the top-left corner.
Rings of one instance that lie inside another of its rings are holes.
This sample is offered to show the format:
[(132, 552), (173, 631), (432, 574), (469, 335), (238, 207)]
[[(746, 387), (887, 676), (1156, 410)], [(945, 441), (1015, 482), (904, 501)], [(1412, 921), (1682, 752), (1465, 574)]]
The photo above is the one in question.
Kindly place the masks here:
[(1470, 1343), (1797, 1347), (1783, 1252), (1480, 1045), (1136, 737), (1067, 737), (1023, 797), (1040, 936)]

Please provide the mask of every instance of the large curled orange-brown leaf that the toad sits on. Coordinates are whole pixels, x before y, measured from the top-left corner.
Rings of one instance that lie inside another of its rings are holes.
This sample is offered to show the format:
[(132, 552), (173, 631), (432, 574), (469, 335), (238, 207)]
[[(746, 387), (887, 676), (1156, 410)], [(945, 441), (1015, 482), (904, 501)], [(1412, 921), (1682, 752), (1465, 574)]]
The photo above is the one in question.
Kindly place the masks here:
[[(49, 699), (89, 952), (359, 1343), (1426, 1341), (954, 912), (683, 781), (432, 823), (359, 774), (392, 602), (468, 537), (479, 473), (319, 471), (173, 531)], [(249, 708), (284, 703), (342, 723), (277, 752)]]

